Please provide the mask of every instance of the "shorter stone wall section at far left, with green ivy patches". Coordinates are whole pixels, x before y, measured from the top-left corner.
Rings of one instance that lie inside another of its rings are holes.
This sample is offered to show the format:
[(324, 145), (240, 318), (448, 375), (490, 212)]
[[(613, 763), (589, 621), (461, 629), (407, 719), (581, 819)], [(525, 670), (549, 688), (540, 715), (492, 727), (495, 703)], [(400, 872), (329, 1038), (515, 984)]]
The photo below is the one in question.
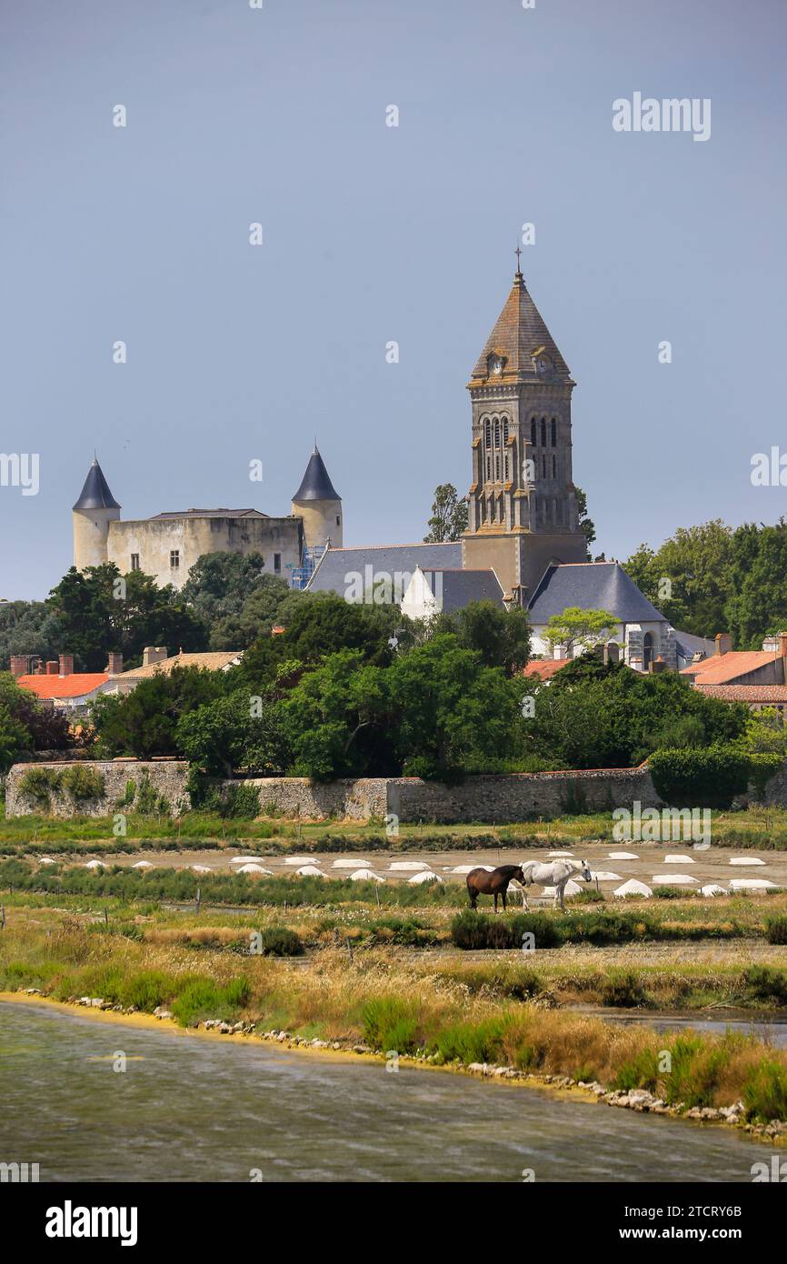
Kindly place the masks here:
[[(21, 790), (25, 774), (33, 770), (37, 774), (51, 770), (56, 775), (72, 767), (101, 774), (104, 794), (100, 799), (76, 803), (66, 790), (53, 789), (47, 809), (45, 803), (30, 799)], [(136, 810), (140, 782), (144, 781), (157, 796), (165, 799), (169, 813), (177, 817), (189, 808), (187, 777), (188, 763), (184, 760), (78, 760), (69, 763), (58, 760), (49, 763), (15, 763), (5, 782), (5, 815), (27, 817), (48, 811), (53, 817), (68, 818), (110, 817), (116, 811), (131, 813)], [(119, 800), (125, 799), (130, 781), (135, 787), (134, 801), (120, 808)]]

